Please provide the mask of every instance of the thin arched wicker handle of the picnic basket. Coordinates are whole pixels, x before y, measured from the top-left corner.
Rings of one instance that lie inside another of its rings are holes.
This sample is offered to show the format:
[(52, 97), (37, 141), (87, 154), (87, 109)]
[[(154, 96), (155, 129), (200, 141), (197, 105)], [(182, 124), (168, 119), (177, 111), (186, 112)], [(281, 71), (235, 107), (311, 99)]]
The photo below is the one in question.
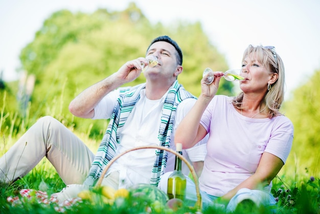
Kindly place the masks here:
[(202, 207), (202, 203), (201, 203), (201, 195), (200, 195), (200, 189), (199, 189), (199, 183), (198, 183), (198, 177), (197, 177), (197, 174), (195, 173), (192, 165), (187, 161), (187, 159), (180, 155), (179, 153), (177, 153), (176, 151), (174, 151), (173, 149), (171, 148), (167, 148), (167, 147), (164, 147), (164, 146), (159, 146), (159, 145), (148, 145), (148, 146), (138, 146), (138, 147), (134, 147), (134, 148), (131, 148), (131, 149), (128, 149), (127, 151), (124, 151), (123, 153), (113, 157), (109, 163), (104, 167), (102, 173), (101, 173), (101, 177), (99, 178), (96, 186), (100, 186), (101, 183), (102, 183), (102, 180), (104, 178), (104, 175), (106, 174), (107, 170), (109, 169), (110, 165), (115, 162), (118, 158), (120, 158), (122, 155), (126, 154), (126, 153), (129, 153), (131, 151), (134, 151), (134, 150), (138, 150), (138, 149), (143, 149), (143, 148), (156, 148), (156, 149), (161, 149), (161, 150), (165, 150), (167, 152), (170, 152), (176, 156), (178, 156), (182, 161), (184, 161), (188, 168), (190, 169), (190, 172), (192, 174), (192, 177), (194, 179), (194, 183), (195, 183), (195, 186), (196, 186), (196, 194), (197, 194), (197, 202), (195, 204), (195, 207), (198, 208), (198, 210), (201, 210), (201, 207)]

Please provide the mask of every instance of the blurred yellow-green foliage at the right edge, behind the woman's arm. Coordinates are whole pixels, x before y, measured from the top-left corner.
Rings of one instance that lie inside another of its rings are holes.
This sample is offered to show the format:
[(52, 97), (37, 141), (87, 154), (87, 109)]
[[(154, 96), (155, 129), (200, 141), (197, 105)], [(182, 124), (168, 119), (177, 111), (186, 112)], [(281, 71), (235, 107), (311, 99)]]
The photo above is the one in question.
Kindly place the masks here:
[(293, 94), (294, 98), (284, 106), (286, 116), (294, 126), (293, 145), (287, 165), (295, 165), (297, 173), (305, 176), (320, 174), (319, 79), (320, 70), (316, 71), (308, 82), (297, 88)]

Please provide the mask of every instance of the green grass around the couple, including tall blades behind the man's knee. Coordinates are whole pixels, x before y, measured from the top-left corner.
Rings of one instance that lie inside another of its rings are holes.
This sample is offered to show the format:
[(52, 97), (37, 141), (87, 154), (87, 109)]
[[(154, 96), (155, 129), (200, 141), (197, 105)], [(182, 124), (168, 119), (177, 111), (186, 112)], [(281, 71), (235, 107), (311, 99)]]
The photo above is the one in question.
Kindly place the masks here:
[[(0, 156), (5, 154), (5, 151), (10, 148), (16, 139), (18, 139), (35, 120), (24, 120), (16, 116), (16, 114), (5, 113), (5, 106), (0, 109), (0, 128), (5, 124), (4, 121), (11, 118), (11, 125), (2, 127), (3, 132), (0, 139)], [(12, 116), (13, 115), (13, 116)], [(52, 115), (56, 118), (64, 118), (63, 116)], [(18, 121), (18, 122), (17, 122)], [(18, 123), (18, 124), (17, 124)], [(8, 124), (8, 123), (7, 123)], [(71, 124), (71, 123), (67, 123)], [(16, 128), (18, 127), (18, 128)], [(73, 129), (73, 126), (70, 126)], [(90, 129), (90, 127), (88, 127)], [(19, 131), (17, 131), (19, 130)], [(83, 139), (84, 142), (96, 151), (100, 140), (89, 138), (89, 131), (85, 133), (77, 133), (76, 135)], [(303, 160), (300, 160), (301, 162)], [(297, 161), (299, 162), (299, 161)], [(287, 163), (288, 164), (288, 163)], [(320, 213), (320, 180), (319, 176), (310, 176), (307, 168), (305, 173), (298, 173), (296, 164), (292, 167), (284, 167), (279, 176), (273, 179), (272, 194), (278, 200), (277, 206), (273, 209), (269, 207), (257, 207), (254, 210), (243, 208), (235, 213)], [(19, 196), (19, 190), (24, 188), (45, 190), (49, 195), (60, 191), (65, 187), (62, 180), (59, 178), (54, 167), (47, 159), (43, 159), (29, 174), (24, 178), (16, 181), (13, 184), (0, 183), (0, 213), (57, 213), (55, 206), (44, 205), (37, 203), (36, 200), (23, 201), (21, 205), (12, 206), (7, 202), (8, 196)], [(149, 200), (149, 201), (148, 201)], [(179, 209), (173, 211), (165, 205), (154, 208), (152, 201), (148, 198), (129, 198), (122, 201), (117, 201), (113, 205), (110, 204), (93, 204), (88, 201), (79, 203), (73, 206), (72, 209), (66, 209), (65, 213), (186, 213), (193, 210)], [(225, 213), (215, 207), (203, 209), (202, 213)]]

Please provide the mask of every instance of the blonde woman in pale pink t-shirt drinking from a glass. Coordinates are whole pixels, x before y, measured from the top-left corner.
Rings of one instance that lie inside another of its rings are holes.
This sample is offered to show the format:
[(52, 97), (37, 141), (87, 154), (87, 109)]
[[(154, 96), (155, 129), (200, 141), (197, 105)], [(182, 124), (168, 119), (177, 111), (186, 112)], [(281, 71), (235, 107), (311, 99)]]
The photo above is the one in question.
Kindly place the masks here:
[(199, 178), (202, 201), (219, 198), (227, 210), (241, 201), (275, 204), (272, 179), (289, 155), (293, 125), (279, 110), (284, 97), (284, 66), (274, 47), (248, 46), (242, 59), (241, 93), (216, 95), (223, 72), (201, 94), (176, 130), (175, 142), (190, 148), (209, 133)]

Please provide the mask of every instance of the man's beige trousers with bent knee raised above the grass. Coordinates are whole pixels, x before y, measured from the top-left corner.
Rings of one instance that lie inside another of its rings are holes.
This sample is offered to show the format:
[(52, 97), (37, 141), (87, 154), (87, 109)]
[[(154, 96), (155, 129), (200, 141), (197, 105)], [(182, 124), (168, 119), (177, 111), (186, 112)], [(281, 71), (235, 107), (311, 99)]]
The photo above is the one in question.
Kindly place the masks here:
[(95, 155), (62, 123), (45, 116), (0, 158), (0, 181), (15, 181), (25, 176), (43, 157), (52, 163), (67, 185), (83, 183)]

